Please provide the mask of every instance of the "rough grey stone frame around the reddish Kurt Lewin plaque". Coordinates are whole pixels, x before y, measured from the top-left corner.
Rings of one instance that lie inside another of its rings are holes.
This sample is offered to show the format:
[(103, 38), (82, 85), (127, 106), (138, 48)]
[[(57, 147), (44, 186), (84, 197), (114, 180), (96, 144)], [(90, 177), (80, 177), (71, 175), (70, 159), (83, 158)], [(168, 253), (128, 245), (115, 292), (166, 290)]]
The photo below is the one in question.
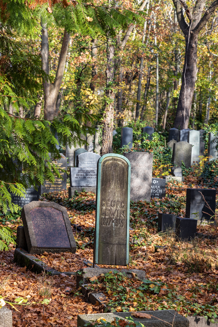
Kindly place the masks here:
[[(34, 208), (39, 208), (39, 207), (45, 207), (45, 208), (54, 208), (55, 210), (59, 210), (62, 213), (63, 216), (63, 220), (65, 223), (65, 227), (66, 227), (66, 232), (68, 235), (68, 239), (69, 239), (69, 244), (70, 244), (70, 248), (47, 248), (47, 247), (38, 247), (37, 246), (37, 241), (36, 241), (36, 236), (35, 236), (35, 232), (33, 229), (33, 223), (32, 223), (32, 219), (31, 219), (31, 214), (30, 211)], [(52, 253), (60, 253), (60, 252), (72, 252), (75, 253), (76, 251), (76, 243), (75, 243), (75, 239), (74, 239), (74, 234), (70, 225), (70, 220), (67, 214), (67, 209), (65, 207), (62, 207), (61, 205), (59, 205), (58, 203), (55, 202), (42, 202), (42, 201), (32, 201), (28, 204), (26, 204), (23, 209), (22, 209), (22, 213), (21, 213), (21, 218), (23, 221), (23, 225), (24, 225), (24, 232), (25, 232), (25, 237), (26, 237), (26, 243), (27, 243), (27, 247), (28, 247), (28, 251), (29, 253), (43, 253), (44, 251), (46, 252), (52, 252)]]

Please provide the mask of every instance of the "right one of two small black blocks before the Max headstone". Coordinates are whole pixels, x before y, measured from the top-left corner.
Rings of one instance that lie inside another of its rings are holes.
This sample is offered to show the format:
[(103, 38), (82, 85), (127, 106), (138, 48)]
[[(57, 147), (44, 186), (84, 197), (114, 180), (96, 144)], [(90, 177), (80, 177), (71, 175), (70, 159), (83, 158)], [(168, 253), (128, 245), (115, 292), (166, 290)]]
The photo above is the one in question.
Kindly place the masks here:
[(185, 241), (191, 241), (196, 234), (197, 219), (176, 217), (176, 236)]

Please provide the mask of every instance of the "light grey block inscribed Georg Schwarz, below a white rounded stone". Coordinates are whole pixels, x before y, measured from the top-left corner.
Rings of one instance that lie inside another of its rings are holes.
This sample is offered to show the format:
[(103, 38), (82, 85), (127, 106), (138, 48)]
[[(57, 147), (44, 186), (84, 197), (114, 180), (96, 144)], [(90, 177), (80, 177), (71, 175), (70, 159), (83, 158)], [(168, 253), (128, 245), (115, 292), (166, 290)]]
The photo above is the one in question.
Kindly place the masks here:
[(96, 186), (97, 168), (70, 168), (70, 186)]

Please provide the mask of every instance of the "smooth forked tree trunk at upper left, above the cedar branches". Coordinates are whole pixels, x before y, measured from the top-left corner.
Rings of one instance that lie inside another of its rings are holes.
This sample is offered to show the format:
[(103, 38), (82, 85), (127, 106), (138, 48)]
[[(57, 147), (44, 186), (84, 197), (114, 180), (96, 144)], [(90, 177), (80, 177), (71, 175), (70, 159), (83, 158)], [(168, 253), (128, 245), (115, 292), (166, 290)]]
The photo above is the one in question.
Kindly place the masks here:
[[(41, 35), (42, 43), (41, 43), (41, 57), (42, 57), (42, 69), (49, 74), (49, 45), (48, 45), (48, 30), (45, 25), (42, 25), (42, 35)], [(43, 89), (44, 89), (44, 119), (52, 120), (55, 116), (55, 108), (57, 97), (60, 90), (60, 85), (62, 82), (64, 68), (67, 57), (67, 49), (70, 41), (70, 34), (64, 31), (58, 68), (55, 76), (54, 83), (50, 83), (50, 81), (43, 81)]]

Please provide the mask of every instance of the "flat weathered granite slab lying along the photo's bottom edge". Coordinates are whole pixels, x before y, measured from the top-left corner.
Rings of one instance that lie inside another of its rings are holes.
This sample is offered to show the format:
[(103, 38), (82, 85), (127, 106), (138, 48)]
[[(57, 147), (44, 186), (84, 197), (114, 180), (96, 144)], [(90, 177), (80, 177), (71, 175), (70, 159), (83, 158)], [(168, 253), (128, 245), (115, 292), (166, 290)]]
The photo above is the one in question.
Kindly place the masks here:
[[(90, 315), (78, 315), (77, 327), (83, 327), (88, 322), (94, 322), (99, 318), (105, 318), (111, 322), (114, 318), (125, 319), (126, 317), (132, 317), (134, 321), (141, 322), (146, 327), (189, 327), (189, 320), (179, 315), (174, 310), (161, 310), (161, 311), (140, 311), (140, 313), (146, 313), (151, 315), (151, 318), (136, 318), (131, 316), (131, 312), (112, 312), (112, 313), (97, 313)], [(175, 317), (175, 318), (174, 318)]]

